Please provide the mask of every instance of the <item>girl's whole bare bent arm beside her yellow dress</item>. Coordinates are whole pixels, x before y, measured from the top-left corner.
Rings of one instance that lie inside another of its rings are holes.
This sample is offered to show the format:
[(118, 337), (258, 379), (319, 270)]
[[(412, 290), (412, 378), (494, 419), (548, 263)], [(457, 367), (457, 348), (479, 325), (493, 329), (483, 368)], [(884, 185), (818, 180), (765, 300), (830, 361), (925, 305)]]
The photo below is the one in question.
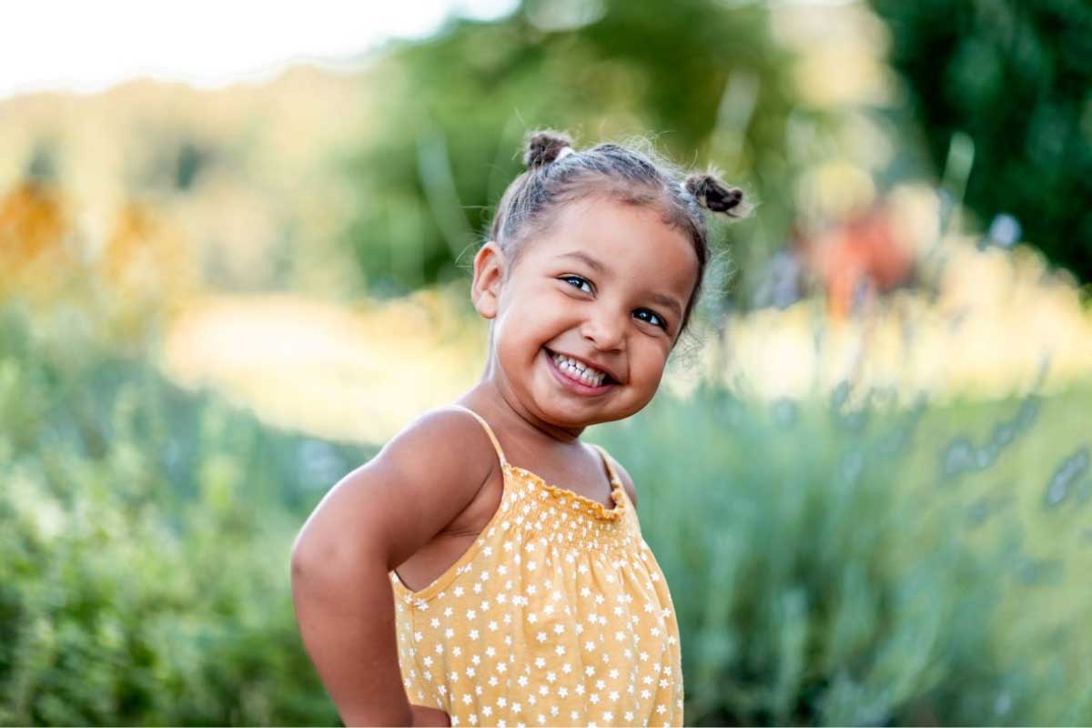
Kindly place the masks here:
[(406, 697), (389, 572), (470, 504), (495, 461), (477, 422), (438, 409), (342, 478), (304, 524), (292, 551), (296, 620), (346, 726), (450, 725)]

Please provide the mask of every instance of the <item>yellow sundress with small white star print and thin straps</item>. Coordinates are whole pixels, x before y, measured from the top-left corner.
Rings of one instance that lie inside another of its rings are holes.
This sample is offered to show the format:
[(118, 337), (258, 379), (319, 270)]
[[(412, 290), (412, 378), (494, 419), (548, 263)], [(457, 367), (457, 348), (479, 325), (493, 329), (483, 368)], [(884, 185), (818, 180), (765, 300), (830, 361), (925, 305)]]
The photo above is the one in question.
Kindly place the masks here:
[(682, 666), (667, 582), (632, 501), (614, 508), (500, 458), (500, 506), (455, 563), (413, 592), (392, 571), (411, 703), (451, 725), (681, 726)]

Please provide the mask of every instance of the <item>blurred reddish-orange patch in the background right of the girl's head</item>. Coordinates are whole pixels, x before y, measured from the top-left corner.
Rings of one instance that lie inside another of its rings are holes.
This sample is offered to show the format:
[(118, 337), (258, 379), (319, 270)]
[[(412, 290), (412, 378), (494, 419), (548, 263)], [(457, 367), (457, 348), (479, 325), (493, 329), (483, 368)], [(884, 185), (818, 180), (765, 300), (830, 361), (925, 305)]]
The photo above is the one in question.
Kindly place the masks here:
[(828, 311), (844, 319), (857, 298), (865, 306), (876, 297), (911, 281), (914, 256), (893, 235), (891, 218), (882, 206), (852, 217), (819, 235), (802, 237), (797, 251), (805, 268), (827, 291)]

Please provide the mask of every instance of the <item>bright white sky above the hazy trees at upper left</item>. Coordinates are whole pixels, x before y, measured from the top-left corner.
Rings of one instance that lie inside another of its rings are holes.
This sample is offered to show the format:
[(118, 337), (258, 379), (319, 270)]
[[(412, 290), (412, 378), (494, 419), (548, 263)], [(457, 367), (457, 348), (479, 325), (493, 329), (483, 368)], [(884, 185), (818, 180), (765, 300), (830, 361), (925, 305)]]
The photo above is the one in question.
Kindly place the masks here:
[(0, 43), (0, 99), (36, 91), (88, 94), (151, 76), (217, 87), (286, 64), (353, 68), (391, 37), (420, 37), (451, 14), (510, 13), (514, 0), (278, 3), (253, 0), (12, 3)]

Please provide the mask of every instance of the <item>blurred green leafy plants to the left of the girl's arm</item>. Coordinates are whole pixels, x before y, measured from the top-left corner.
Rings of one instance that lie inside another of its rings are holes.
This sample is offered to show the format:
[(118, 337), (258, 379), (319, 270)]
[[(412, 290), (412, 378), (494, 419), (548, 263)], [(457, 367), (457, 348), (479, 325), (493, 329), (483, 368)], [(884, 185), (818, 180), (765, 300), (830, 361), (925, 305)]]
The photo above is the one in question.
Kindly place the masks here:
[(0, 313), (0, 725), (339, 725), (288, 557), (370, 453)]

